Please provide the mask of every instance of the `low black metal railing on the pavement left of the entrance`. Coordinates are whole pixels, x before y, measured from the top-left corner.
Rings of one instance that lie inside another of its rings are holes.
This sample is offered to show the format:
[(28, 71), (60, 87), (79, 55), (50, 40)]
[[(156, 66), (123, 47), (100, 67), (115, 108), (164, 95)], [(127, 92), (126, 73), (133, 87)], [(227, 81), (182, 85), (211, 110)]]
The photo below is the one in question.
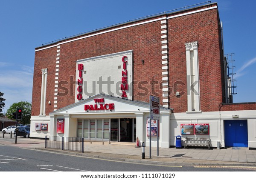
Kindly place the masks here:
[(45, 136), (45, 148), (84, 152), (84, 138)]

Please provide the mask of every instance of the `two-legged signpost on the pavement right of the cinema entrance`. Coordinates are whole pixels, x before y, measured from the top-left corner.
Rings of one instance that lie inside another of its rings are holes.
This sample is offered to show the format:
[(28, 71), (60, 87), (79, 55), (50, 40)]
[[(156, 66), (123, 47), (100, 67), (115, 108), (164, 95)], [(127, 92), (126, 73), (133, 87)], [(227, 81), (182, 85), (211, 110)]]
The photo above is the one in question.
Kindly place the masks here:
[[(151, 120), (157, 120), (157, 126), (159, 125), (159, 120), (160, 120), (160, 99), (159, 97), (155, 97), (150, 95), (150, 125), (149, 125), (149, 158), (151, 158)], [(159, 149), (159, 138), (158, 138), (158, 131), (159, 127), (157, 128), (157, 156), (158, 156), (158, 149)]]

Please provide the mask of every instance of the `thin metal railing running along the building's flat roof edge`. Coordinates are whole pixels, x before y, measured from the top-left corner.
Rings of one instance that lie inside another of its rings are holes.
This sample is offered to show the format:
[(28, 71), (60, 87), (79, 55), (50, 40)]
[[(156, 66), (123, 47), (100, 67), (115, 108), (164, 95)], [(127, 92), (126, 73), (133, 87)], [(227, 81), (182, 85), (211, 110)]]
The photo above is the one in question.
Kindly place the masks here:
[(136, 19), (133, 19), (133, 20), (128, 20), (128, 21), (125, 21), (125, 22), (122, 22), (122, 23), (116, 23), (116, 24), (113, 24), (113, 25), (111, 25), (111, 26), (105, 26), (105, 27), (103, 27), (103, 28), (99, 28), (99, 29), (94, 29), (94, 30), (86, 31), (86, 32), (79, 33), (79, 34), (75, 34), (75, 35), (68, 36), (68, 37), (63, 37), (63, 38), (60, 38), (60, 39), (57, 39), (57, 40), (50, 41), (50, 42), (48, 42), (48, 43), (44, 43), (44, 44), (42, 44), (42, 46), (46, 46), (46, 45), (49, 45), (49, 44), (52, 44), (52, 43), (56, 43), (56, 42), (61, 41), (61, 40), (66, 40), (66, 39), (69, 39), (69, 38), (72, 38), (72, 37), (76, 37), (76, 36), (80, 36), (80, 35), (84, 35), (84, 34), (87, 34), (87, 33), (95, 32), (95, 31), (99, 31), (99, 30), (103, 30), (103, 29), (107, 29), (107, 28), (110, 28), (110, 27), (113, 27), (113, 26), (118, 26), (118, 25), (122, 25), (122, 24), (125, 24), (125, 23), (131, 23), (131, 22), (135, 22), (135, 21), (137, 21), (137, 20), (146, 19), (146, 18), (148, 18), (148, 17), (154, 17), (154, 16), (157, 16), (157, 15), (167, 14), (167, 13), (172, 12), (172, 11), (187, 9), (187, 8), (189, 8), (189, 7), (192, 7), (192, 6), (198, 6), (198, 5), (206, 4), (206, 3), (209, 4), (209, 3), (211, 3), (211, 1), (208, 0), (208, 1), (203, 2), (203, 3), (197, 3), (197, 4), (190, 5), (190, 6), (184, 6), (184, 7), (181, 7), (181, 8), (177, 8), (177, 9), (172, 9), (172, 10), (169, 10), (169, 11), (160, 12), (160, 13), (157, 13), (157, 14), (151, 14), (151, 15), (147, 15), (147, 16), (144, 16), (144, 17), (136, 18)]

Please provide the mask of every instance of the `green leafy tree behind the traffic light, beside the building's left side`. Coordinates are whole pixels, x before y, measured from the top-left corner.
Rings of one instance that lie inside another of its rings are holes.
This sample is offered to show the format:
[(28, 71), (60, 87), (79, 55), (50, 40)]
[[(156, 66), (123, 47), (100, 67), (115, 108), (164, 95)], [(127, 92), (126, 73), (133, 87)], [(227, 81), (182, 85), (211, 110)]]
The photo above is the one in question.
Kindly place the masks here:
[(12, 113), (17, 111), (17, 108), (22, 108), (22, 119), (20, 120), (20, 123), (25, 125), (25, 124), (30, 124), (30, 117), (31, 117), (31, 103), (27, 101), (20, 101), (18, 103), (13, 103), (12, 106), (7, 110), (7, 117), (9, 119), (12, 118)]

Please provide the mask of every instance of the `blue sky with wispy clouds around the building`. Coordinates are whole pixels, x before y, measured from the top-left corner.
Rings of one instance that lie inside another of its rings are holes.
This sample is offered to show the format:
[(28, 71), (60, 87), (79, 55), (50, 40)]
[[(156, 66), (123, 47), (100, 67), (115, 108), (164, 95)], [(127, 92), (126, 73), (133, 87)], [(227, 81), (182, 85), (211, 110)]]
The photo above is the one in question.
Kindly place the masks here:
[[(6, 109), (32, 101), (35, 47), (206, 0), (5, 0), (0, 5), (0, 91)], [(215, 0), (225, 54), (235, 53), (234, 103), (256, 102), (256, 1)], [(209, 67), (210, 69), (210, 67)], [(3, 109), (4, 111), (4, 109)]]

